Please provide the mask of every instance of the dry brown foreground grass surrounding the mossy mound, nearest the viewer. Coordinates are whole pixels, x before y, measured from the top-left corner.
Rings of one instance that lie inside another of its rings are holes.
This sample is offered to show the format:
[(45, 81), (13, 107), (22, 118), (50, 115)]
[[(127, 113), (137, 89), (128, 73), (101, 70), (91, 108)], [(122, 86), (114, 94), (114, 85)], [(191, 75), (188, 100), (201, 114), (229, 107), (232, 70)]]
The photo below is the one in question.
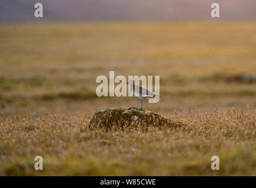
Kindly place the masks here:
[[(1, 117), (1, 175), (255, 175), (255, 113), (182, 113), (147, 132), (89, 129), (77, 116)], [(34, 170), (34, 157), (44, 170)], [(220, 170), (211, 170), (211, 156)]]

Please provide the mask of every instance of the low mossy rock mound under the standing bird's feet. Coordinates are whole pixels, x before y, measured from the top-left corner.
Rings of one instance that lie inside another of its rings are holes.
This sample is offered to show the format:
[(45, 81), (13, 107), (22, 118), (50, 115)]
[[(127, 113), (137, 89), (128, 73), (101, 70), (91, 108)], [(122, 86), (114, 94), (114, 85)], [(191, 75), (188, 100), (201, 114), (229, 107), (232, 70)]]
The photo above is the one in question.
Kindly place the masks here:
[(108, 108), (97, 110), (92, 116), (89, 127), (109, 130), (148, 130), (149, 126), (159, 128), (173, 128), (184, 126), (184, 123), (174, 122), (167, 117), (158, 115), (149, 110), (138, 108)]

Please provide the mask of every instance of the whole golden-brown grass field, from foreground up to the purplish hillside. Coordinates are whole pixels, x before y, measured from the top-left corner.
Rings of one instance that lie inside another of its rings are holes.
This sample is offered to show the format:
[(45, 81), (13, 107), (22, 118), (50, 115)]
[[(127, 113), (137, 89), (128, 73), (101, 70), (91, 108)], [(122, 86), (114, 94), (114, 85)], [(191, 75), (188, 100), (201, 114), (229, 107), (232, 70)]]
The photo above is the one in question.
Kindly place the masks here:
[[(256, 175), (256, 22), (0, 25), (0, 175)], [(97, 76), (159, 75), (175, 129), (90, 130)], [(34, 169), (34, 157), (44, 170)], [(211, 170), (211, 156), (220, 170)]]

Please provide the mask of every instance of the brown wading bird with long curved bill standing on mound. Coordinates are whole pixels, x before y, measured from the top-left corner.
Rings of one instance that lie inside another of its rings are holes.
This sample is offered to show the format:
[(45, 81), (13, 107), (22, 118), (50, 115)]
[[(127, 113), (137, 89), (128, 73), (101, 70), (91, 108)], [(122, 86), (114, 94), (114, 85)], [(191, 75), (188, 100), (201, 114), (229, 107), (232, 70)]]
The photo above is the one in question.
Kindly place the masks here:
[(141, 86), (134, 85), (134, 80), (129, 80), (128, 82), (123, 83), (121, 88), (125, 85), (129, 85), (129, 90), (132, 92), (134, 96), (137, 96), (139, 99), (141, 99), (141, 108), (139, 110), (142, 110), (142, 99), (148, 99), (148, 98), (156, 98), (159, 99), (159, 95), (155, 95), (155, 93), (149, 92), (149, 90), (142, 88)]

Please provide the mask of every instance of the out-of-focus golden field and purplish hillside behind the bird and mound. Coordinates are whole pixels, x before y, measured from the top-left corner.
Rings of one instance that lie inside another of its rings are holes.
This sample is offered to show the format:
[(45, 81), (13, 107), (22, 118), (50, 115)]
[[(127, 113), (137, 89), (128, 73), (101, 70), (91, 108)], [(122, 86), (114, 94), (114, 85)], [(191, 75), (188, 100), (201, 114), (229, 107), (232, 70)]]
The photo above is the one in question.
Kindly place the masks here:
[[(255, 1), (88, 0), (0, 4), (0, 113), (92, 115), (137, 98), (98, 98), (97, 76), (159, 75), (163, 114), (256, 107)], [(221, 18), (211, 18), (211, 4)]]

